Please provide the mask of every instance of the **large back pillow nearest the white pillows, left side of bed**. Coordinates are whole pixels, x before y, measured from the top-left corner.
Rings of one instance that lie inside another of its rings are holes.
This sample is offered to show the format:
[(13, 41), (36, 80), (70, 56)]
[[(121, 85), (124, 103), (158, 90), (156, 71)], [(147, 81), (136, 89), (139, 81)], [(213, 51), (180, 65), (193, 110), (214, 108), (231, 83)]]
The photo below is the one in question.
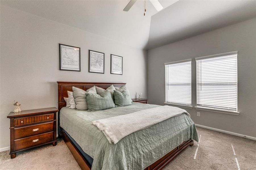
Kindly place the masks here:
[(95, 86), (93, 86), (92, 88), (89, 88), (86, 91), (73, 86), (72, 90), (73, 90), (73, 96), (75, 99), (77, 110), (87, 110), (88, 109), (87, 101), (86, 101), (87, 93), (97, 94)]

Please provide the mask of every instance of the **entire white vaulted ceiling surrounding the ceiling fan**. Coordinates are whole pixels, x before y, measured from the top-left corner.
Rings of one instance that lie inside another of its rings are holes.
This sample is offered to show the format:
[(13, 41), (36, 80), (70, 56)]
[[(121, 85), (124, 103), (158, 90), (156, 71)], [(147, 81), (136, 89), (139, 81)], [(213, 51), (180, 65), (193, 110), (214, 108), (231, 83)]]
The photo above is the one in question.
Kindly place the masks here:
[(0, 2), (1, 5), (144, 49), (155, 48), (256, 16), (256, 1), (159, 0), (165, 9), (157, 12), (147, 0), (145, 16), (142, 0), (138, 0), (128, 12), (124, 12), (123, 8), (129, 1)]

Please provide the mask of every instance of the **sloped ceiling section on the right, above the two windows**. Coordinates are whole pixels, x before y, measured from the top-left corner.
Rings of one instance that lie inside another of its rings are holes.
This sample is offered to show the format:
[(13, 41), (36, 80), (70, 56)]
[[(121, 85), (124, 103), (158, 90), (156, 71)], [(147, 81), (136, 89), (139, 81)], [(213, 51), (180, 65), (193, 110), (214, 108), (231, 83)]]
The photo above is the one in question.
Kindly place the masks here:
[(151, 17), (147, 49), (255, 17), (254, 0), (178, 1)]

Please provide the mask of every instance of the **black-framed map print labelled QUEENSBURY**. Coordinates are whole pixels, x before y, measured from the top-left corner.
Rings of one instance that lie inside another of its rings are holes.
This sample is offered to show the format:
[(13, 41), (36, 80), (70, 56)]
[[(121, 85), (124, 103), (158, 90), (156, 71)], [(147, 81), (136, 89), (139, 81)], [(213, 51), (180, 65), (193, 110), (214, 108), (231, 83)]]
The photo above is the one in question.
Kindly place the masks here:
[(81, 71), (80, 69), (80, 48), (60, 45), (60, 70)]

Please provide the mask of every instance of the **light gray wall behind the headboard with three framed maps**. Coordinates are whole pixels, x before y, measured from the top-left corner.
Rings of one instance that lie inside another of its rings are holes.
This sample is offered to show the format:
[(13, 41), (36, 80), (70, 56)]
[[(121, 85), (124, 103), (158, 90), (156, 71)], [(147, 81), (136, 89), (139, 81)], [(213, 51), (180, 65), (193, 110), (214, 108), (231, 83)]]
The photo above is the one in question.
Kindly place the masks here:
[[(13, 100), (21, 109), (57, 107), (57, 81), (126, 82), (147, 97), (146, 52), (68, 25), (1, 5), (0, 148), (10, 145)], [(81, 72), (59, 70), (59, 43), (81, 47)], [(105, 74), (88, 72), (88, 50), (105, 53)], [(123, 75), (110, 74), (110, 54)]]

